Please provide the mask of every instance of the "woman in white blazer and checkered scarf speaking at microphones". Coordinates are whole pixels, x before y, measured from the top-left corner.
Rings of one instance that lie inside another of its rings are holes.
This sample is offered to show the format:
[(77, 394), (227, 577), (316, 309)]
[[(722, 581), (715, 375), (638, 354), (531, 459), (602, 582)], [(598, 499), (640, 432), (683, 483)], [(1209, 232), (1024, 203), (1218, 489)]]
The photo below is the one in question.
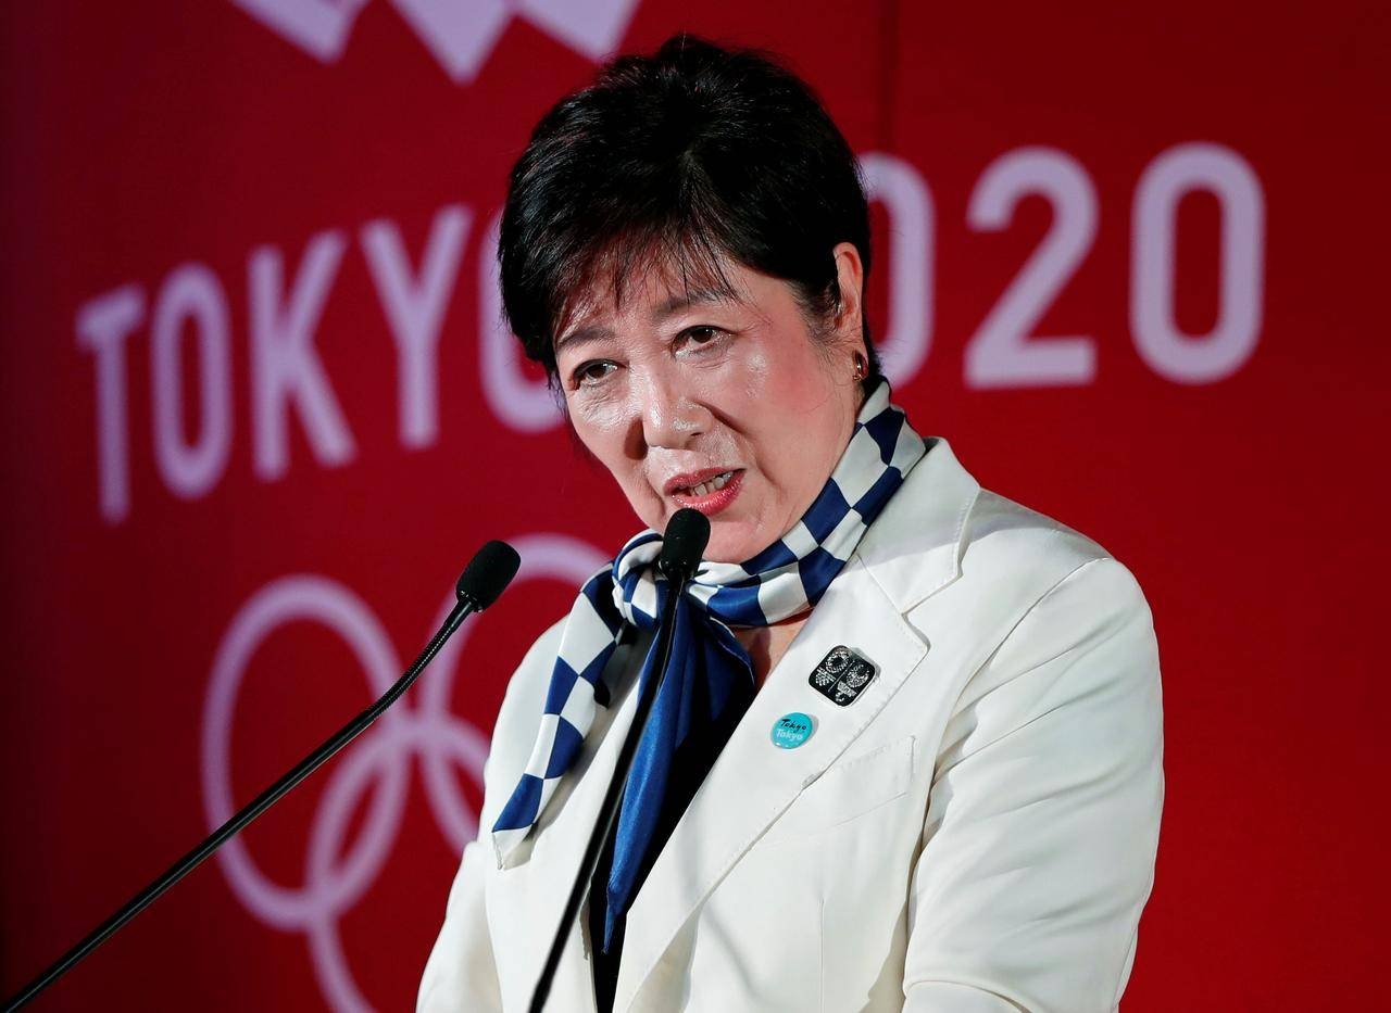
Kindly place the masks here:
[(1114, 1009), (1161, 799), (1128, 571), (889, 402), (854, 157), (690, 38), (561, 101), (504, 303), (648, 531), (513, 675), (420, 1009), (526, 1009), (632, 721), (670, 516), (709, 517), (554, 1010)]

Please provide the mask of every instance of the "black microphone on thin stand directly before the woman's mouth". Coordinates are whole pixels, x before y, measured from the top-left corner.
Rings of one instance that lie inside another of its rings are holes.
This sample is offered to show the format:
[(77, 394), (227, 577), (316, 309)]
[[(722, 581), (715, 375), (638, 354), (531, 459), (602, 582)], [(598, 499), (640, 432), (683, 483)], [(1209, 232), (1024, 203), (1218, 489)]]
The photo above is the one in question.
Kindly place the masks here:
[(600, 806), (600, 814), (594, 821), (590, 842), (584, 846), (584, 857), (580, 860), (580, 870), (574, 874), (574, 884), (570, 887), (570, 895), (565, 900), (565, 910), (561, 912), (561, 924), (556, 927), (555, 938), (551, 941), (551, 952), (541, 967), (541, 977), (536, 982), (536, 991), (531, 992), (531, 1013), (541, 1013), (545, 1009), (545, 999), (551, 994), (551, 982), (555, 980), (555, 971), (561, 966), (565, 938), (570, 934), (570, 925), (574, 924), (574, 919), (580, 913), (580, 905), (584, 903), (584, 893), (588, 889), (590, 880), (594, 878), (594, 868), (598, 866), (604, 842), (608, 841), (613, 832), (613, 825), (618, 823), (619, 807), (623, 805), (623, 789), (627, 785), (627, 774), (633, 768), (633, 757), (637, 756), (637, 743), (643, 738), (647, 720), (652, 713), (652, 703), (657, 700), (657, 693), (666, 680), (666, 670), (670, 667), (672, 639), (676, 635), (676, 606), (682, 595), (686, 593), (686, 585), (696, 575), (696, 568), (705, 553), (707, 542), (709, 542), (709, 518), (700, 510), (691, 510), (690, 507), (677, 510), (672, 514), (672, 520), (666, 522), (666, 532), (662, 535), (662, 553), (657, 559), (657, 568), (666, 577), (670, 586), (666, 592), (666, 600), (662, 603), (661, 625), (657, 629), (657, 664), (652, 670), (652, 678), (648, 680), (647, 686), (643, 688), (643, 695), (637, 700), (633, 724), (627, 730), (627, 736), (623, 739), (623, 746), (618, 753), (618, 761), (613, 764), (613, 778), (609, 781), (604, 803)]

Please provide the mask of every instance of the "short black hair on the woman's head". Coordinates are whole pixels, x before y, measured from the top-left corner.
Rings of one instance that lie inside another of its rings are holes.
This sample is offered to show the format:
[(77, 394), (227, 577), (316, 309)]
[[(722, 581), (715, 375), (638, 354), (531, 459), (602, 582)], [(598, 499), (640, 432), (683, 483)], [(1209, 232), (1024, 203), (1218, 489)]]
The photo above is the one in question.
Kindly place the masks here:
[(840, 302), (842, 242), (858, 250), (868, 290), (860, 165), (811, 88), (768, 53), (676, 35), (615, 58), (537, 124), (502, 211), (502, 306), (554, 384), (554, 328), (600, 277), (618, 300), (632, 271), (652, 265), (729, 292), (723, 254), (791, 283), (803, 311), (825, 320)]

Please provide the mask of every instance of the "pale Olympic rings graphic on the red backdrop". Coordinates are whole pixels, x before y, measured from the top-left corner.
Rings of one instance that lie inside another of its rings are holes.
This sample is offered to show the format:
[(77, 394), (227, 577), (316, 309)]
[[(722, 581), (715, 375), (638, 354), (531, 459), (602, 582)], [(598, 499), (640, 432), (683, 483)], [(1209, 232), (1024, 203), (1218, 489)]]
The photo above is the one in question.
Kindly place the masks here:
[[(598, 549), (563, 535), (534, 534), (516, 539), (515, 546), (522, 556), (517, 582), (551, 578), (577, 588), (605, 563)], [(453, 604), (451, 595), (430, 632)], [(235, 812), (231, 734), (246, 666), (268, 634), (294, 621), (320, 623), (338, 634), (362, 663), (373, 698), (385, 692), (402, 670), (373, 610), (337, 581), (289, 575), (252, 595), (217, 648), (203, 705), (203, 809), (209, 828)], [(451, 764), (463, 767), (481, 785), (488, 742), (448, 706), (459, 652), (472, 625), (466, 623), (440, 652), (412, 693), (415, 700), (398, 700), (334, 764), (309, 834), (303, 887), (287, 888), (268, 880), (241, 838), (232, 838), (218, 852), (232, 892), (253, 914), (275, 928), (307, 937), (319, 985), (335, 1010), (371, 1009), (348, 967), (338, 920), (371, 887), (395, 845), (415, 756), (421, 761), (430, 809), (451, 848), (462, 852), (477, 834), (479, 816), (459, 791)], [(479, 677), (483, 673), (474, 674)], [(364, 793), (371, 796), (370, 809), (357, 839), (344, 855), (352, 814)]]

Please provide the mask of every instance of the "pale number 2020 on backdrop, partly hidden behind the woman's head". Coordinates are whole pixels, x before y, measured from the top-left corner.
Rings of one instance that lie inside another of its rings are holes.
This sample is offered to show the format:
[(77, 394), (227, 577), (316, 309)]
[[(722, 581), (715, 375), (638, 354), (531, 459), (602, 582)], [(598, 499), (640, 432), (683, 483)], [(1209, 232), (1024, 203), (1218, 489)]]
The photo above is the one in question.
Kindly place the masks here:
[[(936, 213), (926, 182), (892, 154), (861, 158), (871, 200), (889, 213), (889, 313), (885, 372), (906, 382), (932, 345)], [(1184, 333), (1174, 311), (1178, 203), (1195, 190), (1221, 210), (1219, 306), (1207, 333)], [(1007, 229), (1027, 196), (1053, 206), (1053, 224), (965, 346), (971, 388), (1078, 386), (1096, 379), (1089, 335), (1032, 333), (1096, 238), (1096, 188), (1066, 151), (1022, 147), (996, 158), (971, 193), (978, 232)], [(1141, 359), (1175, 384), (1213, 384), (1239, 370), (1260, 339), (1264, 196), (1251, 165), (1220, 145), (1168, 149), (1143, 171), (1131, 203), (1129, 329)]]

